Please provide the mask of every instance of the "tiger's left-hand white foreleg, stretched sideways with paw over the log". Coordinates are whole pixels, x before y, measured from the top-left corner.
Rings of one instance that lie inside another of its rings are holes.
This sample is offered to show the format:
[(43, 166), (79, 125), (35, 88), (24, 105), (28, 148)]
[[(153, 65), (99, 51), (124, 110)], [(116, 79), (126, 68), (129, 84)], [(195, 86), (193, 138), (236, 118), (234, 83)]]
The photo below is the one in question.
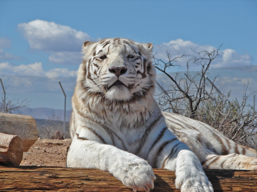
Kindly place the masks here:
[(144, 159), (112, 145), (76, 137), (67, 155), (67, 167), (108, 171), (133, 191), (150, 191), (156, 179), (152, 167)]

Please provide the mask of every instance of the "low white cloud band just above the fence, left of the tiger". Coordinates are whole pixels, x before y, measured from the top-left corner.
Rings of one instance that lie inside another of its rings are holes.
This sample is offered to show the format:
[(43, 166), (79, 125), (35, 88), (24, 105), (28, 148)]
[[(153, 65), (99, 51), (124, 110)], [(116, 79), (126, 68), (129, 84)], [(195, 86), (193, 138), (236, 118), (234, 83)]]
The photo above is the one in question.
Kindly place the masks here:
[(11, 65), (8, 62), (0, 63), (0, 75), (31, 75), (47, 77), (76, 77), (77, 71), (70, 71), (66, 68), (56, 68), (44, 71), (41, 62), (29, 65)]

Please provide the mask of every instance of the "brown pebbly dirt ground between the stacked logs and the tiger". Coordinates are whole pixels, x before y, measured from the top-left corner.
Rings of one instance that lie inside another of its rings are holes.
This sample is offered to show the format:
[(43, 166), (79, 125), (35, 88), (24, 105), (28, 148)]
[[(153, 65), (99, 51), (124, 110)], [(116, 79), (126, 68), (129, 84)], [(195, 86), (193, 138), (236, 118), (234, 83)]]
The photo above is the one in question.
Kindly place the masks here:
[(71, 141), (71, 139), (38, 139), (28, 152), (23, 152), (20, 165), (66, 167)]

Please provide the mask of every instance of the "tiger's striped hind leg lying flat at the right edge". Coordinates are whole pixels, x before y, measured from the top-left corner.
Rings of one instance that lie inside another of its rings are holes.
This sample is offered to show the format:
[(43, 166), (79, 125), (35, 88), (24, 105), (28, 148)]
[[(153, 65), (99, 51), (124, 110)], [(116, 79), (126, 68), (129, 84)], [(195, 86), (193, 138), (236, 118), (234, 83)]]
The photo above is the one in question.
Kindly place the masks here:
[(257, 169), (257, 158), (242, 154), (232, 153), (229, 155), (207, 155), (207, 160), (202, 163), (205, 169)]

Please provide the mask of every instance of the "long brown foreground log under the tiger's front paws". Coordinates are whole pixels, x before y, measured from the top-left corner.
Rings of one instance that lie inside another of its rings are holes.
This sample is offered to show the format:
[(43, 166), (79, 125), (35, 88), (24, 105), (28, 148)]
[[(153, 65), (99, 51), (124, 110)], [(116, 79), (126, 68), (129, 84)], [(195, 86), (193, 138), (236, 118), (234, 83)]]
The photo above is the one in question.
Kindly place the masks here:
[[(256, 192), (257, 172), (246, 170), (204, 170), (215, 192)], [(154, 169), (155, 188), (174, 191), (175, 172)], [(0, 191), (132, 191), (109, 172), (88, 168), (0, 166)]]

